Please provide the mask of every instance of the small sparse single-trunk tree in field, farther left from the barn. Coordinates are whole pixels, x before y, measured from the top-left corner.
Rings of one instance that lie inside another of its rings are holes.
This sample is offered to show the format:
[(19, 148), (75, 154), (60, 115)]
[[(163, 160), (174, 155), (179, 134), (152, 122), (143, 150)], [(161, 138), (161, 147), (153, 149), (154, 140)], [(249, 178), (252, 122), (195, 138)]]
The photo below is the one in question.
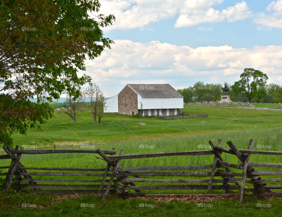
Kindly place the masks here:
[(68, 116), (70, 116), (71, 119), (73, 119), (73, 123), (74, 125), (76, 125), (76, 118), (77, 113), (81, 112), (81, 103), (84, 101), (84, 97), (83, 96), (78, 96), (78, 98), (75, 98), (74, 96), (71, 96), (71, 93), (66, 91), (65, 92), (67, 94), (66, 96), (66, 106), (67, 109), (63, 111), (63, 113), (67, 114)]

